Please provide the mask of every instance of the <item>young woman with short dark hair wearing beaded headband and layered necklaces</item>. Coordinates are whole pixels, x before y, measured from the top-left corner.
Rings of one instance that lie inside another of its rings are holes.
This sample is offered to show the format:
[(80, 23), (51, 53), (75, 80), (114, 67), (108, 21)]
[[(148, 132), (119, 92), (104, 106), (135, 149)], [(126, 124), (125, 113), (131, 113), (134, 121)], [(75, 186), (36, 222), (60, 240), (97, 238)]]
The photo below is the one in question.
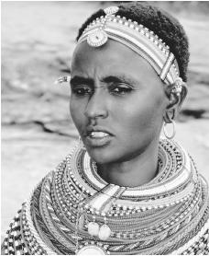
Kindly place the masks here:
[(77, 41), (70, 109), (80, 142), (22, 205), (3, 253), (208, 254), (207, 183), (172, 140), (187, 94), (181, 25), (128, 3), (93, 14)]

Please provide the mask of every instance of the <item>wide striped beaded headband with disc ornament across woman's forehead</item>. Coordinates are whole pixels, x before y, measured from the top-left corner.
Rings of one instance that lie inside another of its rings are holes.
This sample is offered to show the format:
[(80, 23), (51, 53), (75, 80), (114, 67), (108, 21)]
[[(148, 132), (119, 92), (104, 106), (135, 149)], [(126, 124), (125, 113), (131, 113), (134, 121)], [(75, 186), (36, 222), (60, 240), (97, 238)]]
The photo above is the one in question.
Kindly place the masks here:
[[(179, 67), (170, 47), (136, 21), (115, 16), (118, 9), (117, 6), (105, 8), (105, 16), (93, 20), (83, 30), (78, 43), (87, 41), (92, 47), (100, 47), (108, 38), (119, 41), (147, 60), (167, 85), (175, 85), (177, 81), (180, 85)], [(178, 92), (181, 92), (180, 87)]]

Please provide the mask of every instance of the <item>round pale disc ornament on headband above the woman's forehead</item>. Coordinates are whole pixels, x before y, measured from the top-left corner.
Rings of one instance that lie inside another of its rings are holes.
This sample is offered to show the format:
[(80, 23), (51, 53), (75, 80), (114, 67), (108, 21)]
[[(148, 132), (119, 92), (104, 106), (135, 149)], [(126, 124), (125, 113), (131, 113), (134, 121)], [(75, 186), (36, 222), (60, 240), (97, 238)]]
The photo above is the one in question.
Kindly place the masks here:
[(87, 37), (87, 42), (90, 46), (100, 47), (108, 40), (106, 32), (102, 29), (96, 29)]

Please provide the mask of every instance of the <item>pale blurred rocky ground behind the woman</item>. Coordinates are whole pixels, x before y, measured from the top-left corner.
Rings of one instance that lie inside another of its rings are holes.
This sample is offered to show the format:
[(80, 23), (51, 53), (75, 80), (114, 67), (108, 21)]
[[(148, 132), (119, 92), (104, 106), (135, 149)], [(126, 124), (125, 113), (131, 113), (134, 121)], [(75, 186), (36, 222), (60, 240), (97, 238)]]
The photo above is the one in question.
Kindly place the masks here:
[[(33, 187), (77, 140), (69, 114), (71, 53), (82, 22), (113, 2), (2, 3), (1, 235)], [(178, 17), (191, 47), (189, 96), (176, 139), (209, 180), (209, 4), (153, 2)]]

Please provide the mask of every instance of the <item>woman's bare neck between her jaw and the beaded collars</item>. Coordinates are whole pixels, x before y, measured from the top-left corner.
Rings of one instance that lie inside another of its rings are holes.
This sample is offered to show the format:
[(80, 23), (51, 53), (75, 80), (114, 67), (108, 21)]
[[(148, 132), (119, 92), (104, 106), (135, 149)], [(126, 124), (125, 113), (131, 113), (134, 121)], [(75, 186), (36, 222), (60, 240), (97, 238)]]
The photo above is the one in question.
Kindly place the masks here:
[(98, 165), (98, 174), (108, 183), (137, 187), (152, 180), (158, 170), (159, 142), (148, 145), (137, 157), (124, 162)]

